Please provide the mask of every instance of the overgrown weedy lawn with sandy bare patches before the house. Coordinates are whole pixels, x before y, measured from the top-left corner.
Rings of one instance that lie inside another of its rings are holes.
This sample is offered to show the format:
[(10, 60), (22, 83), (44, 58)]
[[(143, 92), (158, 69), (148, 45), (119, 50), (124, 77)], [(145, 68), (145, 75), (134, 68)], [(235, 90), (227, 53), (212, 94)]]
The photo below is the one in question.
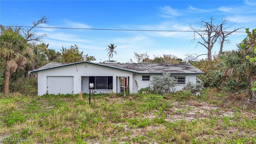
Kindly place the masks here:
[[(94, 105), (95, 99), (95, 105)], [(242, 96), (0, 94), (0, 143), (254, 144), (256, 108)]]

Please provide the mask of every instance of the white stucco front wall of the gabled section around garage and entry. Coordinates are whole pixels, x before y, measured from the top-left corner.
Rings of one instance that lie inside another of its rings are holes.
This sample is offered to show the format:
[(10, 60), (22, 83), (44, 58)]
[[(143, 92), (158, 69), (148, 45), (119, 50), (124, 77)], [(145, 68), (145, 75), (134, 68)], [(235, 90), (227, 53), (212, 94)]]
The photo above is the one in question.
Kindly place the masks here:
[[(49, 70), (43, 70), (38, 72), (38, 95), (41, 96), (47, 92), (47, 76), (74, 76), (74, 94), (86, 90), (86, 79), (82, 79), (84, 76), (113, 76), (113, 92), (116, 92), (116, 76), (129, 76), (130, 87), (132, 87), (132, 73), (124, 70), (117, 70), (114, 68), (107, 68), (104, 66), (96, 66), (94, 64), (81, 63), (70, 66), (63, 66), (60, 68), (54, 68)], [(83, 89), (84, 88), (84, 89)], [(101, 92), (96, 90), (97, 93)], [(102, 90), (102, 93), (110, 92), (109, 90)], [(112, 92), (112, 91), (111, 91)], [(132, 89), (130, 89), (132, 92)]]

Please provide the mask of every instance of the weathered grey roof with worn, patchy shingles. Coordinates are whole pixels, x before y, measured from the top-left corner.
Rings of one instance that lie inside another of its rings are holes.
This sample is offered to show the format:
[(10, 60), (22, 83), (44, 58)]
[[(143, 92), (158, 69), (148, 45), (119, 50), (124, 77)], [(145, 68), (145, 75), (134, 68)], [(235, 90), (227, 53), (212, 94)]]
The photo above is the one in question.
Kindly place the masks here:
[(94, 63), (88, 61), (75, 62), (75, 63), (61, 63), (50, 62), (37, 70), (32, 70), (29, 73), (36, 73), (43, 70), (49, 70), (53, 68), (59, 68), (63, 66), (70, 66), (74, 64), (88, 63), (98, 66), (104, 66), (108, 68), (115, 68), (119, 70), (125, 70), (129, 72), (135, 72), (139, 74), (204, 74), (202, 70), (192, 66), (191, 64), (127, 64), (127, 63)]

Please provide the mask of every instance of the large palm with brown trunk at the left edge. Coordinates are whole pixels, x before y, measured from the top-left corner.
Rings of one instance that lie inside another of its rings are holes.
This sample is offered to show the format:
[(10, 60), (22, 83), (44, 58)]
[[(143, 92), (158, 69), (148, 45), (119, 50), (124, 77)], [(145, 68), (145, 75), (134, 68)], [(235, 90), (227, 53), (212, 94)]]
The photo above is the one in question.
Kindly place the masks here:
[(33, 61), (33, 54), (26, 40), (20, 34), (12, 30), (4, 30), (0, 36), (0, 56), (6, 60), (3, 92), (8, 94), (10, 73), (24, 67), (28, 61)]

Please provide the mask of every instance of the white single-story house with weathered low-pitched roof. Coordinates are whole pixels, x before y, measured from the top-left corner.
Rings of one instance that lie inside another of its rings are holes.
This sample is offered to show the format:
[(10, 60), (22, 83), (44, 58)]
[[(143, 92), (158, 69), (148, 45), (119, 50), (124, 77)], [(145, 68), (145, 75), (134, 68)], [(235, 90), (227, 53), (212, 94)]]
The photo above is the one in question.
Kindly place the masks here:
[[(94, 63), (50, 62), (29, 72), (38, 74), (38, 95), (89, 93), (137, 93), (150, 86), (154, 75), (170, 74), (176, 79), (175, 90), (182, 90), (188, 81), (196, 82), (196, 74), (204, 74), (191, 64), (124, 64), (106, 61)], [(91, 88), (90, 84), (94, 84)]]

